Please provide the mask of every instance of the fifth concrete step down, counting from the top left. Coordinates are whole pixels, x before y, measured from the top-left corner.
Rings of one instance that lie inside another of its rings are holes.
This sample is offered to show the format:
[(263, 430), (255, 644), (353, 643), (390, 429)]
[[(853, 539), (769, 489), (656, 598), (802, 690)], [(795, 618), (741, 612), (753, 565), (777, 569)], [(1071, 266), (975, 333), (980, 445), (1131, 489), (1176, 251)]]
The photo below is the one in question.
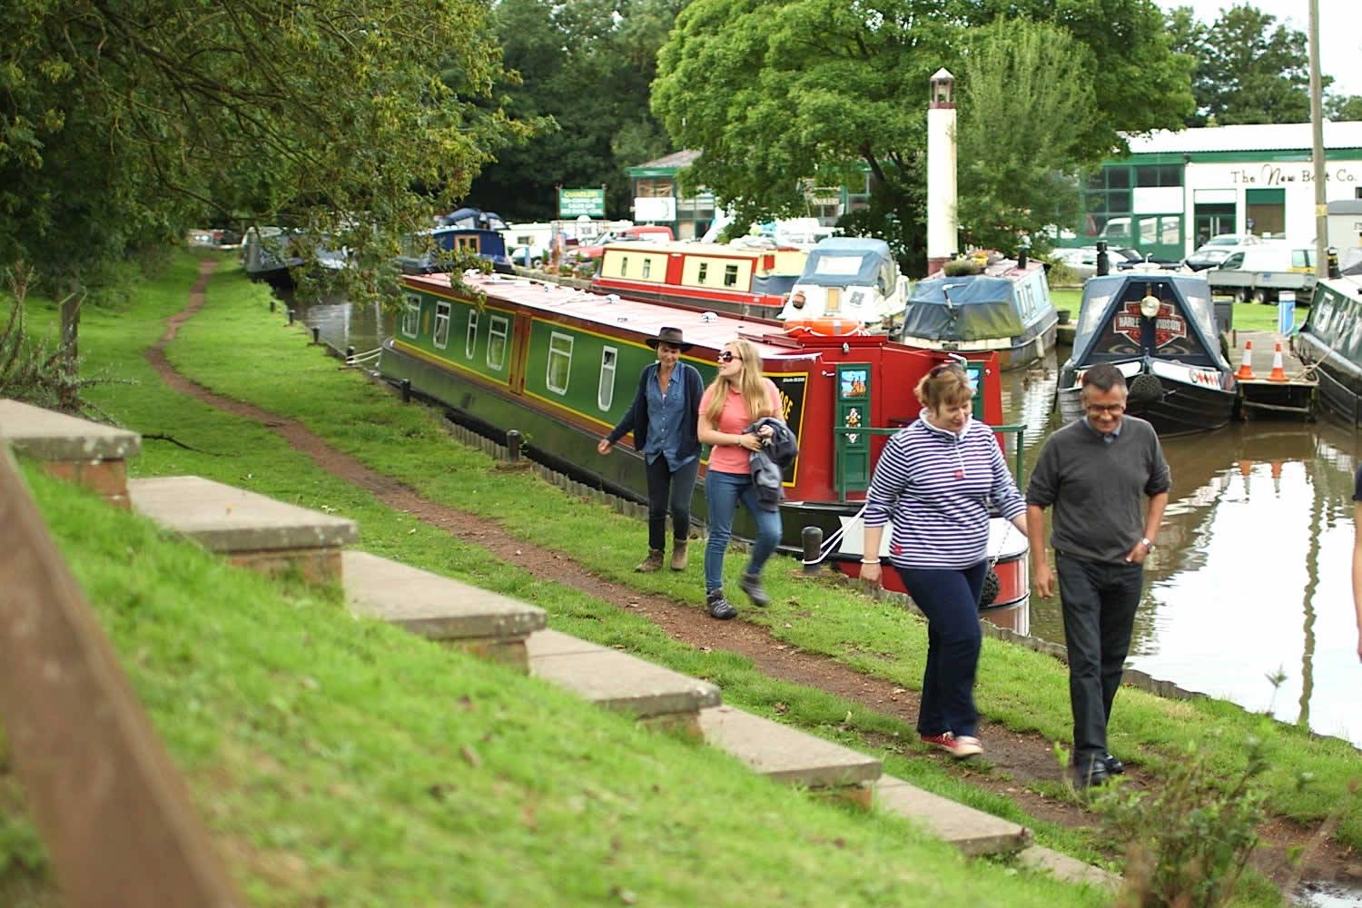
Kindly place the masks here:
[(870, 806), (870, 783), (881, 769), (873, 757), (733, 707), (703, 709), (700, 730), (707, 742), (763, 776)]

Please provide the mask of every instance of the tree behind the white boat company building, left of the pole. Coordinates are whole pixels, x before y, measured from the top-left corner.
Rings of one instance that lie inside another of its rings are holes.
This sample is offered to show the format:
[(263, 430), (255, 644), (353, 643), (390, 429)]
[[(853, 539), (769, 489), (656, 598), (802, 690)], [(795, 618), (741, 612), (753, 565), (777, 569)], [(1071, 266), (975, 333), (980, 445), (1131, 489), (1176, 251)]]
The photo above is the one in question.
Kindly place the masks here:
[[(1306, 35), (1275, 23), (1248, 3), (1222, 10), (1211, 25), (1197, 22), (1190, 7), (1169, 14), (1174, 45), (1196, 67), (1189, 127), (1310, 120)], [(1324, 78), (1325, 87), (1331, 82)]]

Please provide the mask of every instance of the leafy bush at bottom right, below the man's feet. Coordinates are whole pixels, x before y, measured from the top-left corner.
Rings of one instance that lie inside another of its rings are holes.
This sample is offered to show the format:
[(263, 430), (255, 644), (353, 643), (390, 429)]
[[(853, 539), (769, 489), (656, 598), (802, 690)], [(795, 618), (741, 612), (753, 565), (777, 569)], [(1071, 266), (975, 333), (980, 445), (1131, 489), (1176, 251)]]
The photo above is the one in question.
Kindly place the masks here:
[(1126, 844), (1129, 908), (1215, 908), (1229, 904), (1265, 820), (1263, 742), (1245, 742), (1246, 762), (1222, 779), (1197, 746), (1182, 753), (1158, 794), (1117, 785), (1095, 800)]

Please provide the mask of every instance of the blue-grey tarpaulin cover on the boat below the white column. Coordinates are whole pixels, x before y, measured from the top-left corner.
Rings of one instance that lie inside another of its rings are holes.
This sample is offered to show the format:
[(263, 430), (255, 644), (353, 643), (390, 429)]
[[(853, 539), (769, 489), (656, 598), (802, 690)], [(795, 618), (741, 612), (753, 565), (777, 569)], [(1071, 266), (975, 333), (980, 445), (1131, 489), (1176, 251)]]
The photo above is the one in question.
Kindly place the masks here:
[(1015, 289), (1015, 282), (987, 275), (919, 280), (903, 312), (903, 336), (930, 340), (1020, 336), (1026, 327)]

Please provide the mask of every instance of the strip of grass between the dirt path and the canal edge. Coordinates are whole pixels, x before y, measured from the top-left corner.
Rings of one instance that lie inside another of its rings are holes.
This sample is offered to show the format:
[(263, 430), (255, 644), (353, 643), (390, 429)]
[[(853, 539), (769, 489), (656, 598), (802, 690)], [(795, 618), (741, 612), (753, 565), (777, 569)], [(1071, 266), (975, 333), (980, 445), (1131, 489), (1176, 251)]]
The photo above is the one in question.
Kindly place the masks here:
[[(301, 332), (281, 328), (279, 321), (267, 314), (263, 291), (244, 285), (238, 272), (223, 272), (210, 285), (210, 305), (168, 353), (187, 374), (304, 419), (338, 448), (432, 500), (497, 516), (516, 532), (568, 551), (618, 583), (699, 602), (699, 566), (682, 576), (629, 570), (640, 545), (635, 521), (523, 475), (489, 471), (481, 453), (449, 445), (433, 427), (430, 414), (394, 406), (390, 395), (338, 372), (332, 359), (300, 350)], [(262, 381), (263, 374), (270, 378)], [(298, 395), (294, 389), (300, 387), (315, 393)], [(398, 445), (396, 438), (402, 440)], [(530, 498), (535, 508), (523, 508)], [(741, 560), (730, 558), (727, 568), (735, 579)], [(907, 687), (919, 686), (926, 640), (914, 617), (850, 589), (810, 588), (787, 579), (779, 564), (768, 573), (774, 603), (760, 613), (749, 610), (749, 619), (768, 625), (793, 645), (834, 655)], [(1046, 656), (986, 640), (977, 698), (990, 719), (1053, 741), (1069, 736), (1066, 672)], [(1339, 837), (1362, 844), (1362, 800), (1347, 795), (1348, 781), (1358, 776), (1358, 757), (1344, 742), (1313, 739), (1224, 701), (1179, 702), (1126, 690), (1113, 719), (1111, 745), (1160, 772), (1194, 742), (1212, 754), (1219, 775), (1229, 777), (1244, 764), (1241, 742), (1249, 735), (1267, 742), (1273, 810), (1316, 821), (1346, 805)], [(1299, 787), (1302, 773), (1314, 783)]]

